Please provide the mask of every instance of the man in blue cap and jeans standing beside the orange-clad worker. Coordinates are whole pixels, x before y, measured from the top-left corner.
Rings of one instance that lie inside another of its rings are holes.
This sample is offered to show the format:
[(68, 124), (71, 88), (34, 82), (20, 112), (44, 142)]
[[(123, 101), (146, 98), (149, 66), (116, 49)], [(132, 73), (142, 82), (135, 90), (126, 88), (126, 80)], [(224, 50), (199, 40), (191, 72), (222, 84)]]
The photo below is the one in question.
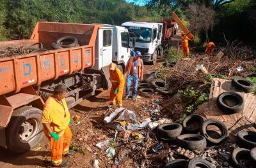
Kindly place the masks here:
[(134, 57), (131, 57), (127, 66), (127, 85), (125, 99), (130, 95), (132, 83), (132, 99), (136, 99), (139, 81), (143, 80), (143, 60), (140, 59), (141, 52), (137, 51)]

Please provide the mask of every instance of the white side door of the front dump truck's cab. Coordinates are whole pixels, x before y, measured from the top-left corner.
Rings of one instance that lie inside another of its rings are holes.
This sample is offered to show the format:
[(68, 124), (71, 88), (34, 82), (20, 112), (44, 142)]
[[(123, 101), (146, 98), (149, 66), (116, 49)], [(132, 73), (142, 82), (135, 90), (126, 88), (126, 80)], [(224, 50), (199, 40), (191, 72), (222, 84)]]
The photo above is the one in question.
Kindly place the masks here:
[(99, 29), (99, 37), (102, 36), (102, 41), (99, 41), (100, 47), (100, 67), (109, 66), (112, 62), (112, 29), (102, 28)]

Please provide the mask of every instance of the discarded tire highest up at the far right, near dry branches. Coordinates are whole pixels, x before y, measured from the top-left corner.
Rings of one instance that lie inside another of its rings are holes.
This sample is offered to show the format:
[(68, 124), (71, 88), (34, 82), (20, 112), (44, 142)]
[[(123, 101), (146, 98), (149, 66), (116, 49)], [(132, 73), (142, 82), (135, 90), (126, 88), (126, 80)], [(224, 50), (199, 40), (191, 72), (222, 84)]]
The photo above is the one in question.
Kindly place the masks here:
[(243, 90), (244, 92), (253, 92), (254, 84), (250, 80), (246, 80), (245, 78), (236, 77), (232, 80), (232, 86), (239, 90)]

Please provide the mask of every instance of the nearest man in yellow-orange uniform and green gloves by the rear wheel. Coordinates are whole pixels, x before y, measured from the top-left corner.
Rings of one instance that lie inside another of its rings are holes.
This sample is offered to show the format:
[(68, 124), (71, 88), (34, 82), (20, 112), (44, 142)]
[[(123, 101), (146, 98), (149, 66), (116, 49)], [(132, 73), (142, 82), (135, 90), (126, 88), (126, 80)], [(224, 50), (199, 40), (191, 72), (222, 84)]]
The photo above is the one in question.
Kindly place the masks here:
[(68, 125), (72, 123), (65, 97), (67, 88), (57, 85), (54, 94), (47, 99), (44, 105), (41, 122), (44, 125), (44, 134), (51, 142), (51, 162), (55, 167), (67, 167), (68, 162), (62, 162), (62, 155), (71, 157), (69, 152), (72, 138)]

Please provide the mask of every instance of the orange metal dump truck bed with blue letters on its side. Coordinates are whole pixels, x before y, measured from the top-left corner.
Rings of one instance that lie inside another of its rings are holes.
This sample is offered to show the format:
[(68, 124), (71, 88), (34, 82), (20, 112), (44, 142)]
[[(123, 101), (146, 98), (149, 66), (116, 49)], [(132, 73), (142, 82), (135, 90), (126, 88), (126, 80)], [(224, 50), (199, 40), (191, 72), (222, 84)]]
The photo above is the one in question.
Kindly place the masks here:
[[(48, 51), (0, 58), (0, 95), (92, 67), (99, 27), (102, 25), (38, 22), (31, 39), (1, 41), (0, 50), (40, 42)], [(76, 37), (80, 46), (52, 50), (52, 42), (63, 36)]]

